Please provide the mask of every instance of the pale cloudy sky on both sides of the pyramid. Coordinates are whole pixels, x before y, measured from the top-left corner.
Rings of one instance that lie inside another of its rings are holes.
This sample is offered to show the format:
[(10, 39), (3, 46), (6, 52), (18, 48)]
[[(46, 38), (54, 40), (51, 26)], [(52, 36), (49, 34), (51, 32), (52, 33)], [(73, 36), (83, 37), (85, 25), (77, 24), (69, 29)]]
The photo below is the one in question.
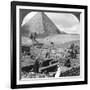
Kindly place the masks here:
[[(38, 12), (30, 12), (28, 13), (23, 21), (22, 26), (27, 23), (35, 14)], [(60, 31), (64, 31), (66, 33), (80, 33), (80, 21), (78, 18), (71, 13), (51, 13), (44, 12), (58, 27)]]

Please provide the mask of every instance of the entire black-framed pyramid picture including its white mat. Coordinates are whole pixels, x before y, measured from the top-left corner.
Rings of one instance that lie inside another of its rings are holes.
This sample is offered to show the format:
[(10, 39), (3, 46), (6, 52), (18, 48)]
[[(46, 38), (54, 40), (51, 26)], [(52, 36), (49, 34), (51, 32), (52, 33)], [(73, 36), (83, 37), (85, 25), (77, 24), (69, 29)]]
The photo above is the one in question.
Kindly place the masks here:
[(20, 2), (16, 3), (16, 9), (15, 2), (12, 4), (12, 10), (16, 10), (16, 18), (12, 14), (13, 20), (16, 20), (15, 27), (13, 26), (14, 30), (16, 28), (13, 32), (16, 35), (16, 43), (13, 41), (16, 45), (15, 48), (13, 46), (16, 52), (13, 78), (15, 77), (16, 82), (12, 87), (86, 83), (86, 7), (19, 4)]

